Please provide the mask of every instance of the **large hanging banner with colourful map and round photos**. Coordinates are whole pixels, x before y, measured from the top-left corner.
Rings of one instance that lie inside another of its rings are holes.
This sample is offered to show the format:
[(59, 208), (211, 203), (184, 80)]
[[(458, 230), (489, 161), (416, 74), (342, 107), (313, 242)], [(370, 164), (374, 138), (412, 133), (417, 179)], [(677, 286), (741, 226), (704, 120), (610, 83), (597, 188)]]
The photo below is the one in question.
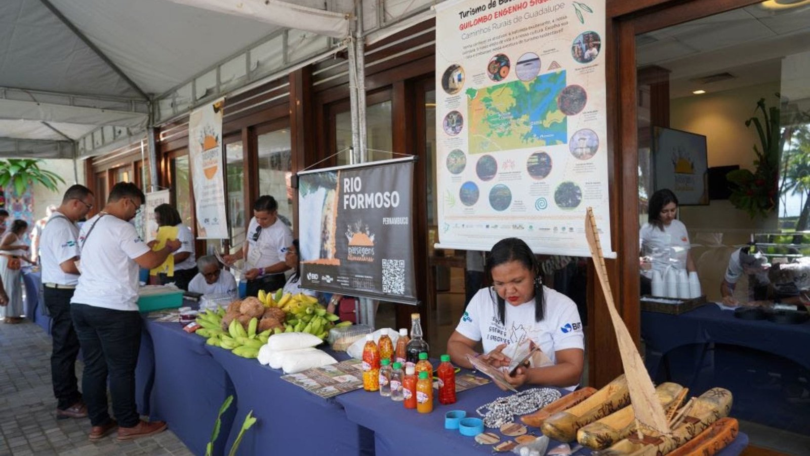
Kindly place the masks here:
[(591, 206), (612, 256), (604, 0), (436, 10), (436, 247), (590, 256)]

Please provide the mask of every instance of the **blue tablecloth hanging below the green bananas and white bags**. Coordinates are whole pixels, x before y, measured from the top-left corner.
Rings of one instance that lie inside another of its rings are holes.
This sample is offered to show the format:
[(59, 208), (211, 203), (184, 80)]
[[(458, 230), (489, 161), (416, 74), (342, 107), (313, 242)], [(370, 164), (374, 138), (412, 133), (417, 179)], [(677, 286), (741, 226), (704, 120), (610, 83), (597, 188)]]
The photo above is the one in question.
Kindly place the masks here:
[(320, 398), (283, 381), (283, 372), (255, 359), (215, 346), (206, 349), (228, 371), (237, 390), (237, 418), (228, 448), (253, 410), (258, 421), (245, 433), (238, 454), (374, 454), (371, 431), (346, 419), (334, 398)]

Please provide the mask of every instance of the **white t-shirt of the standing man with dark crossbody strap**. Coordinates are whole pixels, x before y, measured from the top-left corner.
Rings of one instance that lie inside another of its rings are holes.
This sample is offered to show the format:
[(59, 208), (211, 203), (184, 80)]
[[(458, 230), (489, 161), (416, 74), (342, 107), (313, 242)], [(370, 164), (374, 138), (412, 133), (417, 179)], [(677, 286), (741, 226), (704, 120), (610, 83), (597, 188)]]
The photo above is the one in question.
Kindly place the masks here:
[(137, 311), (139, 267), (134, 259), (150, 248), (135, 227), (113, 215), (96, 215), (82, 226), (79, 247), (82, 275), (70, 303)]

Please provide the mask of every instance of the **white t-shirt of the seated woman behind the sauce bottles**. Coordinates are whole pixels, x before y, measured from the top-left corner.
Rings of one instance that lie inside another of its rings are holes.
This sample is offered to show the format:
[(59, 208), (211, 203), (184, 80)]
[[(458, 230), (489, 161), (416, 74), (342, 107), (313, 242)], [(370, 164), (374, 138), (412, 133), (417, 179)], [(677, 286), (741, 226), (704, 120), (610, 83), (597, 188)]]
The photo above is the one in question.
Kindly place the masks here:
[[(577, 304), (568, 296), (543, 287), (544, 316), (535, 321), (535, 301), (513, 306), (505, 303), (505, 324), (498, 318), (497, 302), (492, 288), (482, 288), (470, 299), (467, 310), (456, 326), (465, 338), (481, 341), (484, 353), (502, 343), (511, 345), (531, 338), (540, 350), (556, 364), (556, 351), (569, 348), (585, 350), (582, 322)], [(509, 347), (504, 350), (509, 354)]]

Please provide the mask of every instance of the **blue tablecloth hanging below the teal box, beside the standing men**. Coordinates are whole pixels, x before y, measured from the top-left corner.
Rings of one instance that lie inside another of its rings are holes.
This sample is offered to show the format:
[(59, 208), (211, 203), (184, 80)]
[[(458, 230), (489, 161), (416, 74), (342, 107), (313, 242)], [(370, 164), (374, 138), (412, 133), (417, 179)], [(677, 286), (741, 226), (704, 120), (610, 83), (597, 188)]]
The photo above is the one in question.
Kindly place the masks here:
[[(234, 394), (228, 373), (205, 349), (205, 339), (185, 333), (179, 323), (144, 318), (144, 325), (155, 359), (150, 418), (166, 421), (189, 450), (205, 454), (217, 412), (225, 398)], [(224, 454), (236, 411), (232, 405), (222, 416), (214, 454)]]

